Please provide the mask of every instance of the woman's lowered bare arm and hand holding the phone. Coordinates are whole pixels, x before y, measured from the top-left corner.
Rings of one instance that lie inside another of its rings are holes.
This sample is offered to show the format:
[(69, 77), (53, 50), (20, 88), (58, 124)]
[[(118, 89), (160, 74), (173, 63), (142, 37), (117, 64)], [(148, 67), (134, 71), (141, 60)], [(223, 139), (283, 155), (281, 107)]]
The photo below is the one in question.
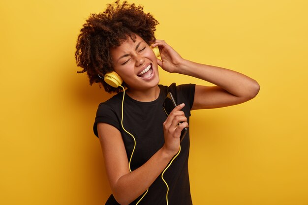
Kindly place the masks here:
[[(106, 123), (97, 124), (107, 177), (119, 204), (127, 205), (142, 195), (179, 150), (181, 131), (188, 125), (184, 113), (180, 111), (183, 107), (179, 105), (175, 108), (164, 122), (164, 146), (131, 173), (120, 131)], [(177, 126), (180, 121), (185, 123)]]

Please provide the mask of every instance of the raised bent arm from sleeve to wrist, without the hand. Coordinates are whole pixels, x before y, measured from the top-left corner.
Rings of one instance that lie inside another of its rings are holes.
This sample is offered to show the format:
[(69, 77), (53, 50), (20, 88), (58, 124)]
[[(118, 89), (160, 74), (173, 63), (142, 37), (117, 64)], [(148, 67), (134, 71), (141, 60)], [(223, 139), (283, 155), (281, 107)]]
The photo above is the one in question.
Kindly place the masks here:
[(188, 60), (183, 62), (180, 72), (216, 85), (196, 86), (192, 110), (240, 104), (254, 98), (260, 89), (259, 84), (246, 75)]

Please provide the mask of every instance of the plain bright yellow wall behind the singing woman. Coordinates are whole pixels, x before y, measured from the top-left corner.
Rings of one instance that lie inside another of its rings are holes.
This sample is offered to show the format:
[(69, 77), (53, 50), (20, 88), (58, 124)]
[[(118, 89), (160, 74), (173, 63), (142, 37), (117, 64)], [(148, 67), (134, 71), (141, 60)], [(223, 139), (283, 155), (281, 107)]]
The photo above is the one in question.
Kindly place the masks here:
[[(0, 204), (103, 205), (92, 123), (108, 99), (75, 64), (79, 30), (105, 0), (1, 0)], [(242, 72), (245, 104), (193, 111), (195, 205), (308, 205), (308, 1), (136, 0), (185, 59)], [(210, 85), (160, 69), (161, 84)]]

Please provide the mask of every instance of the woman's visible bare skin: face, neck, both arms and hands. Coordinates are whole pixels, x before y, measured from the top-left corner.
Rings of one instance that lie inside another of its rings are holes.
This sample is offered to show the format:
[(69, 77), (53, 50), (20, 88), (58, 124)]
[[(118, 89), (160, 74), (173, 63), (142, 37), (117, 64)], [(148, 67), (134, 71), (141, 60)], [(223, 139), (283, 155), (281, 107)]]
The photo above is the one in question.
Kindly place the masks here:
[[(152, 46), (159, 47), (161, 60), (155, 58), (151, 47), (144, 43), (140, 36), (137, 36), (135, 42), (128, 38), (121, 46), (111, 49), (110, 52), (115, 71), (127, 84), (127, 94), (135, 100), (147, 102), (157, 99), (159, 94), (157, 65), (167, 72), (189, 75), (216, 85), (196, 86), (192, 110), (240, 104), (255, 97), (260, 89), (255, 80), (236, 71), (183, 59), (163, 40), (156, 40)], [(147, 78), (138, 77), (138, 74), (146, 70), (149, 65), (152, 70), (148, 71), (150, 73)], [(181, 111), (184, 106), (184, 104), (178, 105), (163, 123), (164, 145), (133, 172), (128, 168), (120, 131), (112, 125), (98, 123), (98, 135), (107, 176), (113, 195), (121, 205), (128, 205), (144, 193), (179, 151), (181, 131), (188, 126), (184, 112)], [(179, 125), (179, 122), (183, 123)]]

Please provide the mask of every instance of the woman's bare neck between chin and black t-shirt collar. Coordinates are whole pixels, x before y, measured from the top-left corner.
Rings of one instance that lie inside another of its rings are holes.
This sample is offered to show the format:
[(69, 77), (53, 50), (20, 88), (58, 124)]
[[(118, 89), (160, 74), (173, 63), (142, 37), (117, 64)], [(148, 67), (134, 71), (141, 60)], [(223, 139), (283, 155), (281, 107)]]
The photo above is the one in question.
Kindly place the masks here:
[(125, 92), (126, 94), (128, 94), (129, 97), (133, 98), (134, 100), (140, 102), (151, 102), (158, 98), (160, 89), (156, 85), (155, 87), (146, 90), (134, 90), (128, 88)]

